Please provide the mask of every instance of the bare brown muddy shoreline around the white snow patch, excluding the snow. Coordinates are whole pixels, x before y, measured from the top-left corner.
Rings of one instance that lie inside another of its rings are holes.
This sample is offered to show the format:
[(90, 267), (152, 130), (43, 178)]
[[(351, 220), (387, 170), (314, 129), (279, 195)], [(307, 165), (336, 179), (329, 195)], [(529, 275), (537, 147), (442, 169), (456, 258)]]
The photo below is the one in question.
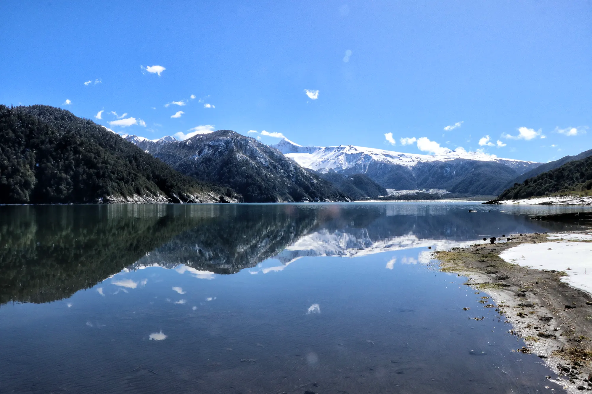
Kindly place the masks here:
[[(562, 247), (561, 237), (548, 237), (511, 234), (497, 238), (494, 244), (435, 251), (433, 259), (439, 260), (442, 272), (466, 276), (465, 285), (488, 293), (494, 303), (480, 307), (496, 308), (513, 326), (510, 334), (523, 338), (525, 347), (516, 351), (538, 355), (559, 375), (558, 379), (548, 379), (569, 393), (592, 391), (592, 382), (588, 381), (592, 375), (592, 294), (563, 282), (566, 272), (533, 269), (500, 257), (503, 251), (525, 244)], [(469, 306), (477, 311), (480, 308)]]

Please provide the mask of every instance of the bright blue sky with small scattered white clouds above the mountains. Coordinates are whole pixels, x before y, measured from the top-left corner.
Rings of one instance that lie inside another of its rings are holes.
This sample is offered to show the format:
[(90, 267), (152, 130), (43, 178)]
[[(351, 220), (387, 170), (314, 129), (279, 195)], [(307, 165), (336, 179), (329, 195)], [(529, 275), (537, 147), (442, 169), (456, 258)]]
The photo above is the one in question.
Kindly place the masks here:
[(0, 12), (0, 103), (60, 106), (119, 133), (278, 141), (265, 130), (540, 162), (592, 148), (590, 2), (50, 0)]

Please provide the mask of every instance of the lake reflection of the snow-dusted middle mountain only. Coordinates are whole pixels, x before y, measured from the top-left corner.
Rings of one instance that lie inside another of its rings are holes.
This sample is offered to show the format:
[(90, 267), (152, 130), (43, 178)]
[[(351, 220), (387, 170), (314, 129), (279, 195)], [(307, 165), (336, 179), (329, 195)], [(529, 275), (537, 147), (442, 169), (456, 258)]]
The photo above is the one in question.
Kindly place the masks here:
[[(136, 265), (186, 266), (220, 274), (236, 273), (274, 257), (316, 223), (313, 211), (289, 205), (233, 209), (177, 235)], [(226, 206), (224, 207), (226, 208)], [(229, 208), (234, 208), (230, 206)]]

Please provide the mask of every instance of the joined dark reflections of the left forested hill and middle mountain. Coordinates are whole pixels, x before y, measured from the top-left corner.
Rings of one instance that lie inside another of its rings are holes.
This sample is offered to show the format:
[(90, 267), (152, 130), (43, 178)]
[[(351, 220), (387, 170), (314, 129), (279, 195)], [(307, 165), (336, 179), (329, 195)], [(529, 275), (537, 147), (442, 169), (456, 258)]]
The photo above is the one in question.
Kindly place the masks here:
[(293, 207), (4, 206), (0, 304), (67, 298), (146, 260), (234, 273), (275, 256), (313, 226), (314, 215)]

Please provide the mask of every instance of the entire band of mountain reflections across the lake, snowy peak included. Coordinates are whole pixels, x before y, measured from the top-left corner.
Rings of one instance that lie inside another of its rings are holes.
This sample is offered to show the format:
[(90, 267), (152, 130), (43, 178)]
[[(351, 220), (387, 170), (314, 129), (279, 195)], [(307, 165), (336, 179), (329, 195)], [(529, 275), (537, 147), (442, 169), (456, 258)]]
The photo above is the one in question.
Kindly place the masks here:
[[(477, 208), (475, 208), (477, 207)], [(503, 233), (562, 230), (524, 214), (570, 207), (459, 204), (2, 206), (0, 305), (68, 298), (123, 269), (198, 277), (275, 257), (363, 256)]]

